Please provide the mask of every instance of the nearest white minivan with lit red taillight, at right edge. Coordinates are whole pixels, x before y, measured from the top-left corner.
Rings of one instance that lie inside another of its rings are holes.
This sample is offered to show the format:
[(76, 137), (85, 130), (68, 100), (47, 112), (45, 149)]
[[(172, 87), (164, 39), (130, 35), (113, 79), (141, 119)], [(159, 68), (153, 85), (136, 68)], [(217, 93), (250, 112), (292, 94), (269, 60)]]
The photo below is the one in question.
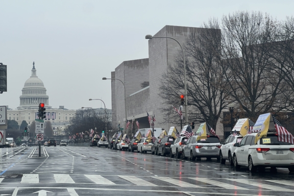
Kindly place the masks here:
[(257, 133), (245, 135), (234, 154), (234, 166), (239, 169), (241, 166), (248, 167), (249, 171), (256, 171), (257, 167), (263, 170), (266, 167), (288, 168), (294, 172), (294, 145), (287, 142), (279, 142), (276, 133), (269, 133), (255, 144)]

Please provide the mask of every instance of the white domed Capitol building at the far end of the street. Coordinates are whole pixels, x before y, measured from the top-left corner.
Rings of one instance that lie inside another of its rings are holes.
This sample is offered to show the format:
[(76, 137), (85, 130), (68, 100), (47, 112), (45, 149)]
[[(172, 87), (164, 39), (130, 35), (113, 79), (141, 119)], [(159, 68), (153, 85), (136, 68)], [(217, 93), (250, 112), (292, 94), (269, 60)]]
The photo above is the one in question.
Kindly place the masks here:
[[(76, 115), (77, 110), (68, 110), (64, 106), (52, 108), (49, 106), (49, 96), (46, 94), (46, 88), (43, 81), (38, 78), (35, 64), (33, 63), (32, 75), (25, 81), (22, 95), (20, 96), (20, 106), (17, 109), (7, 109), (7, 120), (15, 120), (19, 125), (26, 121), (28, 125), (35, 119), (38, 119), (39, 103), (45, 103), (46, 118), (50, 121), (54, 135), (65, 134), (66, 126)], [(104, 108), (95, 109), (98, 116), (103, 116)], [(108, 116), (111, 116), (111, 109), (107, 109)]]

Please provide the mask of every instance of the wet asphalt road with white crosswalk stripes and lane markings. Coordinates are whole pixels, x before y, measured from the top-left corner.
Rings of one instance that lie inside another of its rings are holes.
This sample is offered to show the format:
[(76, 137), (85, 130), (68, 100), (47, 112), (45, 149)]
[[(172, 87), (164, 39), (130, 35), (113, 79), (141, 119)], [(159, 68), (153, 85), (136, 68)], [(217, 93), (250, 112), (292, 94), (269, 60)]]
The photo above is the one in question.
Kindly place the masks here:
[(251, 173), (104, 147), (0, 148), (0, 196), (293, 196), (294, 173)]

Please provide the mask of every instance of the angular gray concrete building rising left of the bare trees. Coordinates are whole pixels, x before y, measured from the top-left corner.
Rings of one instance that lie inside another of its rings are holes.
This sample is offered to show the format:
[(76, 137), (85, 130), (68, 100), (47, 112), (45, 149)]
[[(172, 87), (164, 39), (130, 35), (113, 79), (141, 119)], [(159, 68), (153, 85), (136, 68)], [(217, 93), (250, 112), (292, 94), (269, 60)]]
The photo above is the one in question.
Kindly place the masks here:
[[(191, 33), (197, 32), (198, 29), (196, 27), (166, 25), (154, 37), (173, 37), (183, 45), (186, 38)], [(155, 127), (169, 129), (174, 126), (174, 124), (164, 122), (164, 114), (159, 109), (164, 103), (158, 95), (160, 94), (160, 78), (163, 73), (167, 72), (168, 65), (174, 64), (174, 56), (179, 50), (181, 50), (180, 46), (172, 39), (150, 39), (148, 40), (149, 58), (124, 61), (115, 69), (115, 72), (111, 73), (112, 78), (120, 79), (125, 84), (127, 120), (131, 121), (134, 117), (139, 121), (140, 128), (150, 126), (147, 112), (150, 116), (155, 115)], [(149, 86), (141, 88), (140, 84), (144, 81), (148, 81)], [(124, 89), (119, 80), (112, 80), (111, 88), (112, 120), (113, 127), (116, 127), (119, 121), (125, 121)], [(219, 124), (217, 129), (221, 127), (222, 124)], [(177, 129), (180, 128), (177, 127)], [(222, 134), (218, 131), (217, 133)]]

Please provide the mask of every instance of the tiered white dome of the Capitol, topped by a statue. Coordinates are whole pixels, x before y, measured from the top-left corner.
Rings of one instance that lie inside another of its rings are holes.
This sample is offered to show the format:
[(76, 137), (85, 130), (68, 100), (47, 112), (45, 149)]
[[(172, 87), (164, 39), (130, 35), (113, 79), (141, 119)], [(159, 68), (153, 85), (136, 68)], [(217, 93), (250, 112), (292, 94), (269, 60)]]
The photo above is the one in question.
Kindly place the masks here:
[(20, 106), (18, 109), (38, 109), (39, 103), (45, 103), (46, 108), (49, 106), (49, 96), (46, 95), (46, 88), (43, 81), (38, 78), (35, 63), (33, 63), (32, 75), (25, 81), (25, 86), (20, 96)]

